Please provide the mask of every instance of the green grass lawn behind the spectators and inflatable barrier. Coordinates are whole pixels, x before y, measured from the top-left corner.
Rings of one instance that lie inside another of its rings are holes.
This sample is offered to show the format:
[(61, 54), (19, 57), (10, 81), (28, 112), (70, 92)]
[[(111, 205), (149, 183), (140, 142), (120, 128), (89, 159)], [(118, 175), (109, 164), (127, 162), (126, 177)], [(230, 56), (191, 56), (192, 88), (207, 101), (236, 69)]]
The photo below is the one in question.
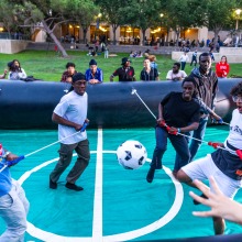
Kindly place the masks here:
[[(19, 59), (28, 76), (34, 76), (43, 80), (59, 81), (67, 62), (75, 63), (77, 72), (85, 73), (92, 57), (87, 56), (87, 52), (68, 51), (67, 53), (69, 58), (58, 57), (53, 51), (24, 51), (18, 54), (0, 54), (0, 74), (7, 68), (7, 64), (14, 58)], [(103, 70), (105, 81), (109, 81), (110, 75), (121, 66), (121, 58), (128, 56), (128, 53), (119, 53), (118, 56), (109, 57), (108, 59), (103, 57), (103, 54), (95, 57), (98, 67)], [(158, 72), (161, 73), (160, 79), (165, 80), (174, 61), (170, 55), (156, 55), (156, 58)], [(143, 68), (143, 58), (132, 58), (131, 65), (134, 67), (136, 79), (139, 79), (140, 72)], [(241, 64), (230, 64), (230, 75), (242, 76)], [(212, 68), (215, 69), (215, 63)], [(185, 72), (190, 74), (191, 67), (187, 65)], [(114, 81), (118, 81), (118, 77), (114, 78)]]

